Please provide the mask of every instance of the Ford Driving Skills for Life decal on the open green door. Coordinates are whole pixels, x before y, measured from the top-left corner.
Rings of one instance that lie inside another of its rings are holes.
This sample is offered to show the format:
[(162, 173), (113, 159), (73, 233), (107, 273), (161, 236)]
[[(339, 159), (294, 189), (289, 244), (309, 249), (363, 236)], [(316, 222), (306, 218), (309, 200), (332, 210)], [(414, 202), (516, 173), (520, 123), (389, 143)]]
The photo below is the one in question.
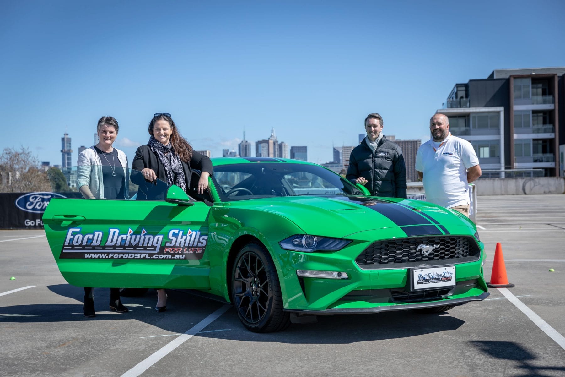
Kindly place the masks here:
[(144, 228), (139, 234), (134, 233), (131, 228), (127, 233), (120, 233), (116, 228), (92, 233), (70, 228), (59, 258), (201, 259), (208, 243), (207, 235), (191, 229), (171, 229), (167, 237), (149, 235)]

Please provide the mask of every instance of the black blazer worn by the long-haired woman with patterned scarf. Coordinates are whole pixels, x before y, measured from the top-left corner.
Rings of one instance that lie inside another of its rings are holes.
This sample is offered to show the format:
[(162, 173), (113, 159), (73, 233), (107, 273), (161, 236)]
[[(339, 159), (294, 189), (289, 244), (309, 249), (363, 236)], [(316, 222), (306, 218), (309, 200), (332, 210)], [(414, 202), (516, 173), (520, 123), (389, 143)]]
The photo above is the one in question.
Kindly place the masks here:
[[(195, 150), (192, 151), (192, 158), (190, 159), (190, 163), (187, 164), (184, 161), (181, 161), (181, 163), (182, 171), (184, 172), (187, 192), (190, 187), (190, 179), (192, 177), (193, 169), (200, 170), (201, 172), (205, 171), (212, 175), (212, 161), (210, 160), (210, 158), (201, 153), (198, 153)], [(153, 153), (151, 149), (149, 149), (149, 145), (142, 145), (137, 148), (136, 157), (133, 158), (132, 169), (141, 171), (143, 168), (153, 169), (155, 171), (155, 174), (157, 174), (158, 179), (167, 182), (167, 173), (165, 172), (165, 167), (159, 160), (157, 154)], [(140, 185), (140, 189), (147, 182), (144, 176), (142, 176), (141, 174), (133, 174), (133, 172), (131, 180), (133, 183)]]

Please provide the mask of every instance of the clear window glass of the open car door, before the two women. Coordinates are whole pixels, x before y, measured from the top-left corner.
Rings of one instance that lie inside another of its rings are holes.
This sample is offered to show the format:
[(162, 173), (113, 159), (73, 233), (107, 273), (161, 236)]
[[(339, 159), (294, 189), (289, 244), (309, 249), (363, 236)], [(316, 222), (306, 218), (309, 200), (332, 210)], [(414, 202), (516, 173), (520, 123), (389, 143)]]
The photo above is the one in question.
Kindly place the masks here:
[(137, 170), (110, 168), (99, 165), (51, 168), (47, 177), (51, 190), (66, 198), (84, 198), (89, 192), (89, 198), (95, 199), (161, 201), (170, 187), (159, 179), (146, 180)]

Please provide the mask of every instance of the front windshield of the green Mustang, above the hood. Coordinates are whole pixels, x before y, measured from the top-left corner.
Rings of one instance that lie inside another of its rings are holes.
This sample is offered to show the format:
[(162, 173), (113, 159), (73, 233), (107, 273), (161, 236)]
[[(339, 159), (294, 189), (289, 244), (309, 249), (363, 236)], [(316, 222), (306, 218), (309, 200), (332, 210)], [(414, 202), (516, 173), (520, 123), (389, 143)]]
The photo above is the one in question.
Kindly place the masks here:
[(310, 164), (263, 162), (215, 166), (212, 181), (222, 201), (298, 195), (364, 196), (344, 177)]

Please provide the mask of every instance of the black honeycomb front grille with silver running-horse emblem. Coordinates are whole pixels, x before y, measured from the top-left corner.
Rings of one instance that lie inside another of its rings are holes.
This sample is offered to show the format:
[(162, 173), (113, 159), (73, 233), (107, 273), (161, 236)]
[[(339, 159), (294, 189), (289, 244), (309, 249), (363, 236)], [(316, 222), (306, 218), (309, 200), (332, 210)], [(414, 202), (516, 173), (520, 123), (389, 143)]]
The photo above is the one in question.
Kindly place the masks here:
[(368, 269), (405, 268), (421, 266), (423, 263), (470, 262), (479, 257), (480, 249), (473, 237), (436, 236), (376, 241), (363, 250), (355, 262), (359, 267)]

